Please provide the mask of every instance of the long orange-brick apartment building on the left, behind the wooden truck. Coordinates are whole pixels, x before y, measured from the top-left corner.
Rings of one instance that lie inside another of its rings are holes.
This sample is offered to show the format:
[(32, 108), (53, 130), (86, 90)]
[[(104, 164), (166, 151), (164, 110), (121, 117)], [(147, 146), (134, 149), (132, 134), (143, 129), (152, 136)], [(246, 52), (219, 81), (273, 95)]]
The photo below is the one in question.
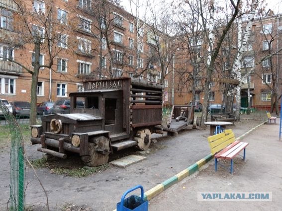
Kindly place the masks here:
[[(104, 3), (103, 6), (97, 5), (99, 2)], [(33, 70), (33, 43), (13, 45), (27, 36), (32, 39), (32, 36), (40, 35), (42, 38), (40, 65), (50, 62), (49, 50), (53, 57), (51, 68), (43, 67), (39, 72), (38, 103), (55, 101), (68, 97), (70, 92), (82, 90), (85, 79), (138, 75), (152, 82), (161, 80), (162, 58), (157, 57), (155, 39), (161, 42), (168, 36), (138, 22), (118, 6), (106, 0), (95, 1), (96, 4), (91, 0), (30, 0), (22, 3), (26, 8), (25, 15), (30, 16), (26, 18), (26, 25), (22, 20), (18, 21), (20, 10), (14, 1), (0, 3), (1, 98), (30, 101), (31, 74), (10, 61)], [(138, 37), (137, 22), (140, 26)], [(28, 29), (31, 30), (29, 34)], [(168, 84), (164, 76), (163, 82)]]

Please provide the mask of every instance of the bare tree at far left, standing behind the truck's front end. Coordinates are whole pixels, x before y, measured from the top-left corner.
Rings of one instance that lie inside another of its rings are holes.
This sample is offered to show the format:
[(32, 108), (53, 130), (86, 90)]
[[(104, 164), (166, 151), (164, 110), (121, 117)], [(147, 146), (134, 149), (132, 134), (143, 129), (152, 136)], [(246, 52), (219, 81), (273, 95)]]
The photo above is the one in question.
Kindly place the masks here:
[[(66, 21), (65, 16), (54, 14), (53, 0), (45, 0), (43, 4), (38, 1), (13, 0), (17, 5), (13, 27), (14, 37), (9, 46), (22, 51), (15, 60), (7, 58), (10, 62), (21, 66), (23, 70), (31, 74), (31, 110), (30, 124), (36, 124), (37, 83), (40, 69), (52, 70), (54, 60), (67, 45), (66, 27), (58, 29), (59, 22)], [(56, 30), (55, 30), (56, 29)], [(59, 32), (59, 33), (58, 33)], [(58, 47), (61, 46), (61, 47)], [(27, 55), (26, 49), (32, 49), (32, 56)], [(43, 63), (42, 54), (46, 64)], [(31, 58), (31, 60), (29, 59)]]

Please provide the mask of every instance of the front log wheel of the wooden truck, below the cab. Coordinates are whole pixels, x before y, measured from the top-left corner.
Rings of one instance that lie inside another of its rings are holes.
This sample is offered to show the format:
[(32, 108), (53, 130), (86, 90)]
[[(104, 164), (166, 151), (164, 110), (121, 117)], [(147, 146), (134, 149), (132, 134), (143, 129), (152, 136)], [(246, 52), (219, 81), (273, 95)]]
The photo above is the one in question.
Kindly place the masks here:
[(88, 143), (89, 155), (82, 156), (86, 165), (95, 167), (106, 164), (109, 159), (110, 146), (109, 139), (103, 136), (94, 137)]

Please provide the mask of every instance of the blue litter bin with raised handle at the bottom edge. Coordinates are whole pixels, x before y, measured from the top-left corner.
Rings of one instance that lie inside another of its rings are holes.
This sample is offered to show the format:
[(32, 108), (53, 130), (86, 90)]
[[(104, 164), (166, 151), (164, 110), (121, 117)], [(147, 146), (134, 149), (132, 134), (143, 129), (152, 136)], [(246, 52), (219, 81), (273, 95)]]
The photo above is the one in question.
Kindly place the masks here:
[[(126, 197), (126, 195), (136, 189), (141, 189), (141, 197), (136, 195), (131, 195)], [(127, 190), (121, 197), (121, 201), (116, 204), (116, 211), (148, 211), (148, 201), (144, 200), (144, 189), (141, 185), (137, 185), (134, 188)]]

